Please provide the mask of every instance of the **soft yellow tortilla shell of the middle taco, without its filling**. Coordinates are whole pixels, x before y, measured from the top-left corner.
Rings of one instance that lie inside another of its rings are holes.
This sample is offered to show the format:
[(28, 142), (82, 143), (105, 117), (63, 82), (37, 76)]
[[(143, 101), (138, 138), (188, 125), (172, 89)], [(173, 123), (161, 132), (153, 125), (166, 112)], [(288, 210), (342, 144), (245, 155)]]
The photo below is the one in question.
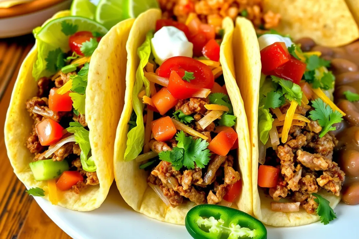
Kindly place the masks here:
[[(196, 204), (194, 202), (186, 201), (181, 206), (176, 208), (171, 206), (167, 207), (147, 184), (149, 172), (139, 169), (139, 165), (141, 163), (138, 163), (135, 160), (125, 162), (123, 159), (127, 142), (127, 123), (130, 120), (132, 112), (132, 89), (136, 80), (135, 73), (139, 65), (137, 48), (144, 42), (146, 33), (149, 30), (155, 29), (156, 20), (160, 18), (161, 12), (155, 9), (148, 10), (138, 16), (130, 32), (129, 41), (127, 42), (126, 48), (128, 61), (125, 95), (126, 104), (117, 127), (114, 157), (115, 180), (123, 199), (134, 210), (157, 220), (174, 224), (184, 224), (188, 210)], [(251, 213), (252, 195), (250, 185), (249, 132), (247, 118), (244, 113), (243, 100), (234, 80), (233, 53), (231, 44), (233, 21), (225, 19), (223, 25), (225, 29), (225, 36), (221, 45), (220, 61), (222, 63), (228, 94), (233, 104), (234, 114), (237, 116), (236, 130), (238, 132), (240, 145), (238, 163), (243, 180), (242, 195), (237, 203), (233, 204), (233, 207), (238, 206), (240, 210)]]

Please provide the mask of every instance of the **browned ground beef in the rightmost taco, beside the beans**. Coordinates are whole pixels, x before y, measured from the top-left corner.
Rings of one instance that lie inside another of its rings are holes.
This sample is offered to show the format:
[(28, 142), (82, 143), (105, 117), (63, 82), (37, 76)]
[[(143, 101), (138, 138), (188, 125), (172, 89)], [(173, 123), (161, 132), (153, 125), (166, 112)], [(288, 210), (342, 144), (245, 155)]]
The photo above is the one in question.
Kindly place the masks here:
[[(285, 104), (280, 109), (284, 114), (288, 108)], [(310, 106), (298, 106), (295, 113), (306, 115), (309, 109)], [(314, 213), (318, 204), (311, 193), (324, 188), (333, 195), (340, 195), (344, 172), (332, 161), (337, 141), (330, 134), (320, 138), (321, 130), (317, 121), (292, 126), (285, 144), (280, 144), (272, 154), (267, 150), (266, 164), (281, 169), (277, 186), (269, 189), (274, 200), (291, 197), (308, 213)]]

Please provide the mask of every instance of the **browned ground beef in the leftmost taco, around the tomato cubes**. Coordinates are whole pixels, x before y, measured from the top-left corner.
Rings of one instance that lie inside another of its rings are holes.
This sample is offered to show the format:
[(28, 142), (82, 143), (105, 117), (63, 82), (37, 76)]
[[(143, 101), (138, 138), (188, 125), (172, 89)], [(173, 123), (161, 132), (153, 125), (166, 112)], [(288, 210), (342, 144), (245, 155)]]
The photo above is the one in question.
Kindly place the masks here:
[[(42, 146), (39, 142), (39, 138), (36, 133), (36, 124), (41, 122), (44, 118), (50, 118), (59, 122), (60, 124), (68, 125), (70, 121), (78, 121), (82, 126), (86, 127), (87, 123), (85, 120), (85, 115), (73, 115), (71, 111), (69, 112), (54, 112), (48, 107), (48, 95), (50, 89), (53, 87), (63, 86), (69, 79), (70, 75), (75, 74), (75, 72), (70, 72), (67, 74), (60, 73), (54, 81), (50, 78), (42, 77), (38, 80), (38, 94), (36, 97), (32, 97), (26, 102), (26, 109), (29, 112), (30, 116), (34, 120), (32, 132), (27, 139), (26, 146), (31, 153), (35, 154), (33, 161), (39, 161), (46, 159), (45, 153), (49, 149), (48, 146)], [(39, 113), (34, 113), (34, 110)], [(66, 138), (70, 134), (65, 134), (62, 138)], [(51, 147), (51, 146), (50, 146)], [(84, 171), (81, 165), (81, 160), (79, 158), (81, 149), (78, 144), (74, 142), (66, 143), (57, 149), (50, 158), (53, 161), (62, 161), (69, 160), (71, 161), (70, 165), (73, 167), (71, 170), (77, 170), (84, 177), (84, 181), (76, 183), (73, 186), (72, 191), (75, 193), (80, 193), (82, 190), (88, 187), (88, 185), (97, 185), (99, 184), (96, 172), (87, 172)]]

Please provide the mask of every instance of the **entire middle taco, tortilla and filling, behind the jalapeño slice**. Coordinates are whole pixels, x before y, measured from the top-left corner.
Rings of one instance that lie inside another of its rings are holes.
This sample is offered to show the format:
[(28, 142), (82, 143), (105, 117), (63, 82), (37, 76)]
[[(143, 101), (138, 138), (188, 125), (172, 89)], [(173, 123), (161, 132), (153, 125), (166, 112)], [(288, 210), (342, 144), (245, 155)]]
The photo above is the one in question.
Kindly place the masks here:
[[(138, 16), (126, 46), (126, 104), (114, 158), (118, 190), (134, 210), (174, 224), (184, 224), (196, 204), (251, 213), (249, 133), (234, 80), (233, 21), (224, 20), (222, 39), (198, 18), (188, 26), (160, 18), (154, 9)], [(206, 29), (197, 40), (208, 39), (195, 43), (193, 29)]]

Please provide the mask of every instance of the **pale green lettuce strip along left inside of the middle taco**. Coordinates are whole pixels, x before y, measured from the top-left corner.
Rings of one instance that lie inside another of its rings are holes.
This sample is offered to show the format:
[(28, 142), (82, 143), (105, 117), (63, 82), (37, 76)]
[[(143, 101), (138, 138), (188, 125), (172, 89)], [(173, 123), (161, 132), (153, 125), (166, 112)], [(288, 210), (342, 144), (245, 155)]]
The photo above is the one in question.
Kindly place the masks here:
[(136, 80), (134, 89), (132, 91), (132, 106), (137, 115), (136, 126), (127, 133), (127, 148), (125, 151), (125, 161), (135, 159), (142, 151), (145, 137), (145, 126), (143, 124), (143, 108), (144, 104), (137, 97), (143, 85), (145, 86), (146, 96), (150, 96), (150, 82), (144, 76), (143, 68), (149, 61), (151, 54), (151, 39), (153, 38), (153, 31), (146, 35), (145, 42), (137, 49), (137, 54), (140, 57), (140, 64), (136, 71)]

